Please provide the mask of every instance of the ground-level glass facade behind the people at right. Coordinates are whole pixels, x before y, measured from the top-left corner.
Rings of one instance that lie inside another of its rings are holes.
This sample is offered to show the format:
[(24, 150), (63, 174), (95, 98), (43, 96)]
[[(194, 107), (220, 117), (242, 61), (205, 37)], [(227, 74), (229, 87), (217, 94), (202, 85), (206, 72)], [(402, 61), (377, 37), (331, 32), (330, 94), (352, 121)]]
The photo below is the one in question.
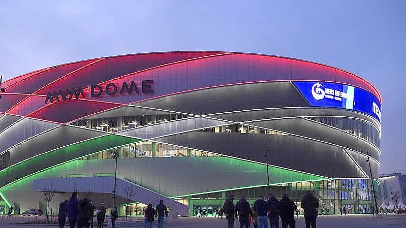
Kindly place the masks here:
[[(377, 182), (375, 181), (374, 184), (377, 185)], [(278, 200), (282, 199), (284, 194), (288, 194), (289, 198), (296, 203), (300, 214), (303, 213), (303, 209), (300, 207), (301, 198), (306, 191), (311, 191), (319, 199), (318, 214), (340, 214), (340, 208), (345, 207), (348, 214), (372, 213), (373, 198), (369, 179), (335, 179), (271, 186), (271, 193)], [(195, 215), (195, 208), (201, 206), (218, 207), (226, 201), (229, 195), (236, 198), (234, 203), (244, 196), (253, 205), (260, 196), (266, 197), (268, 195), (268, 187), (226, 190), (175, 198), (175, 200), (187, 200), (190, 215), (193, 216)], [(214, 214), (208, 213), (208, 216), (214, 216)]]

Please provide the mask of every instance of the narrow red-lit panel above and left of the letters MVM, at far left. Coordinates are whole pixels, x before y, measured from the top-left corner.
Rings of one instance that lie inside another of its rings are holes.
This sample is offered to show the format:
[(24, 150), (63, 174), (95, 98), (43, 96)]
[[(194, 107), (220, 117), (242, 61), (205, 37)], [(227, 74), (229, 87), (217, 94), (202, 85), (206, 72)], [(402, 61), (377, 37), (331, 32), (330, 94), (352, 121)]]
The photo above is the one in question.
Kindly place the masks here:
[(17, 92), (17, 93), (34, 93), (41, 87), (53, 82), (54, 80), (63, 77), (64, 75), (79, 69), (86, 64), (94, 60), (85, 60), (80, 62), (73, 62), (68, 64), (63, 64), (60, 66), (49, 68), (48, 70), (42, 71), (38, 74), (33, 74), (30, 77), (24, 78), (7, 88), (7, 92)]

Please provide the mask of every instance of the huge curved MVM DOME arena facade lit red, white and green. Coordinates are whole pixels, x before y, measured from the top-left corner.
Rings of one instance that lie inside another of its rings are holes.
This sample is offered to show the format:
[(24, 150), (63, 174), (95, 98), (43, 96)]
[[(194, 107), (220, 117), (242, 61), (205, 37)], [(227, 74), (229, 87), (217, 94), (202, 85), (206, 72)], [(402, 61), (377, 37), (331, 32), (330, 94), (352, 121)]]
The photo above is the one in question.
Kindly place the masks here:
[[(132, 201), (165, 198), (182, 215), (189, 213), (184, 207), (210, 213), (231, 193), (266, 195), (265, 148), (272, 192), (299, 202), (313, 190), (319, 213), (369, 210), (367, 153), (378, 179), (380, 93), (319, 63), (234, 52), (146, 53), (50, 67), (2, 87), (5, 209), (44, 207), (41, 191), (51, 185), (54, 207), (70, 191), (108, 201), (109, 184), (101, 190), (97, 183), (110, 183), (116, 152), (118, 187), (139, 192)], [(127, 202), (123, 190), (117, 194)], [(141, 207), (121, 212), (139, 215)]]

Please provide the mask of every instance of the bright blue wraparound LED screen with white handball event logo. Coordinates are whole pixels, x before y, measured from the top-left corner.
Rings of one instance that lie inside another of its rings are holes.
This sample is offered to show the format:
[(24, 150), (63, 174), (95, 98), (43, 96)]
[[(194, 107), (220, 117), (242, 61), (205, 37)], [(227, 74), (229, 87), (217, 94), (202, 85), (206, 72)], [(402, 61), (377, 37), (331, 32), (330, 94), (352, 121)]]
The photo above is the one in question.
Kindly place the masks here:
[(381, 103), (372, 93), (331, 82), (293, 82), (311, 106), (351, 109), (381, 122)]

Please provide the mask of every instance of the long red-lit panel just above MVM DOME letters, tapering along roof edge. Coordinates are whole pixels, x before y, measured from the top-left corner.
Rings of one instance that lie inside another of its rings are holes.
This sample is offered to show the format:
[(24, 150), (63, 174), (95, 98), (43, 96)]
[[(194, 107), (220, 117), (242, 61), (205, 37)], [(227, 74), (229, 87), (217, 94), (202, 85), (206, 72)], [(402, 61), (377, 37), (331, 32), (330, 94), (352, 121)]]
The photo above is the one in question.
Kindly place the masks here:
[(37, 94), (47, 94), (59, 89), (87, 87), (163, 64), (220, 53), (222, 52), (168, 52), (108, 57), (44, 87)]

